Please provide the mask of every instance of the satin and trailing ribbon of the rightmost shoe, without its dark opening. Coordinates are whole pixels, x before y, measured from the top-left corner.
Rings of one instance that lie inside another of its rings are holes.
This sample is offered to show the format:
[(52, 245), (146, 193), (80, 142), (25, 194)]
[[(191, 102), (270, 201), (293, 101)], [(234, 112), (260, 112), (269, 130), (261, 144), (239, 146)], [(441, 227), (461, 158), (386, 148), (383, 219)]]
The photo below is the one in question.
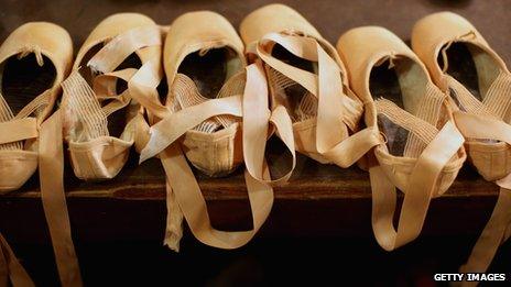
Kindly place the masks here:
[[(454, 112), (456, 125), (466, 139), (465, 145), (469, 161), (486, 180), (496, 181), (501, 187), (490, 220), (474, 246), (467, 263), (460, 267), (460, 272), (464, 273), (485, 273), (498, 247), (509, 239), (510, 234), (511, 185), (509, 174), (511, 166), (507, 164), (511, 157), (510, 125), (503, 121), (505, 117), (492, 112), (487, 101), (477, 100), (470, 91), (446, 73), (448, 67), (446, 52), (454, 43), (465, 43), (477, 47), (480, 54), (491, 59), (491, 66), (486, 67), (488, 69), (478, 70), (481, 73), (478, 74), (478, 80), (487, 79), (494, 69), (499, 69), (500, 75), (504, 75), (508, 79), (511, 75), (502, 58), (467, 19), (452, 12), (441, 12), (427, 15), (415, 23), (412, 32), (412, 47), (430, 69), (435, 84), (450, 93), (454, 107), (457, 107), (459, 97), (471, 100), (471, 103), (464, 108), (466, 111), (458, 109)], [(441, 67), (438, 58), (444, 67)], [(479, 62), (479, 65), (488, 65), (488, 63)], [(498, 95), (492, 95), (497, 96), (493, 102), (497, 110), (507, 107), (509, 87), (505, 89), (504, 86), (493, 91)], [(464, 286), (477, 284), (477, 282), (463, 283)]]

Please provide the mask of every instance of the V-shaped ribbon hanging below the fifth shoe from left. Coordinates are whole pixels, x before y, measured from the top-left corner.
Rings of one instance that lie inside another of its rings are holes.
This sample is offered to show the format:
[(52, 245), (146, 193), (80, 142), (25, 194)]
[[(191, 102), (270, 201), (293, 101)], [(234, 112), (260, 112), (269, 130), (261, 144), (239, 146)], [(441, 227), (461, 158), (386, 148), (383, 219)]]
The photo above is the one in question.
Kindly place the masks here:
[(369, 169), (372, 189), (372, 227), (378, 243), (387, 251), (400, 247), (418, 236), (442, 169), (464, 144), (464, 137), (447, 122), (426, 146), (410, 175), (403, 207), (393, 227), (395, 188), (380, 166)]

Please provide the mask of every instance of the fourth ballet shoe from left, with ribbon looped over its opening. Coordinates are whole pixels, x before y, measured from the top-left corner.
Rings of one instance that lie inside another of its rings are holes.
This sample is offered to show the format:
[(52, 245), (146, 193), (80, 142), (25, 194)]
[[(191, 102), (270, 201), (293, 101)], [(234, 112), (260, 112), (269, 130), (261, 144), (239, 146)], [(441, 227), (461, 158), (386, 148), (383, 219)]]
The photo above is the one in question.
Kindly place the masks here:
[[(287, 147), (348, 167), (381, 142), (376, 129), (359, 131), (363, 104), (348, 87), (337, 51), (300, 13), (283, 4), (265, 5), (243, 19), (240, 34), (248, 57), (269, 80), (270, 99), (258, 95), (257, 100), (269, 102), (270, 133), (276, 132)], [(265, 112), (259, 119), (268, 119)], [(243, 129), (254, 129), (261, 139), (268, 133), (258, 128), (262, 123), (247, 121)], [(257, 154), (265, 145), (243, 144)]]

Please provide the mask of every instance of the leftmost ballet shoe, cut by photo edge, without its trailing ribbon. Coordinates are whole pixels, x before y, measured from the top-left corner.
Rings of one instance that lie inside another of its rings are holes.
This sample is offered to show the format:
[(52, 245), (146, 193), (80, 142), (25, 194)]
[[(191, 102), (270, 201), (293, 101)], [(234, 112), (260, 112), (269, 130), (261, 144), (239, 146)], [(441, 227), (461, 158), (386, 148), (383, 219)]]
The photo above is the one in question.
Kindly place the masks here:
[(37, 129), (53, 112), (72, 57), (69, 35), (52, 23), (24, 24), (1, 45), (1, 194), (19, 189), (37, 168)]

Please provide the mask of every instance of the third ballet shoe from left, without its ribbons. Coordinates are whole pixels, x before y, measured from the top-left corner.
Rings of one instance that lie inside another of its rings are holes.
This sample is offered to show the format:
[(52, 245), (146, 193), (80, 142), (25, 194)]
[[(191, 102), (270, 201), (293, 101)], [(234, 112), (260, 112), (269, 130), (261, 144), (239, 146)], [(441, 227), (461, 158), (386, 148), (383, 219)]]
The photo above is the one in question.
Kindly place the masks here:
[[(193, 24), (200, 16), (206, 20)], [(166, 106), (173, 112), (203, 103), (208, 99), (225, 99), (242, 95), (246, 60), (243, 45), (230, 23), (211, 12), (187, 13), (177, 18), (166, 35), (164, 67), (170, 95)], [(208, 176), (225, 176), (242, 163), (240, 118), (218, 115), (189, 126), (182, 146), (188, 161)], [(151, 139), (145, 151), (163, 146)], [(157, 148), (157, 150), (161, 150)], [(154, 152), (141, 154), (141, 161)]]

